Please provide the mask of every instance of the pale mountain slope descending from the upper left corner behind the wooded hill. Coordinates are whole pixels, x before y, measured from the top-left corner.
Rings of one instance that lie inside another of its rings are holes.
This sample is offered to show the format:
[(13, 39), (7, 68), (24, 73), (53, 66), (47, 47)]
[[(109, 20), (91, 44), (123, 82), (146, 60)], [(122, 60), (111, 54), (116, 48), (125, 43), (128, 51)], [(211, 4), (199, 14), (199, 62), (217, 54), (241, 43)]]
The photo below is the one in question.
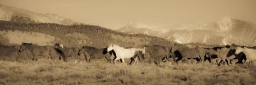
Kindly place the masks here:
[(51, 13), (36, 13), (3, 4), (0, 4), (0, 20), (23, 23), (55, 23), (63, 25), (79, 24), (74, 20), (66, 19)]

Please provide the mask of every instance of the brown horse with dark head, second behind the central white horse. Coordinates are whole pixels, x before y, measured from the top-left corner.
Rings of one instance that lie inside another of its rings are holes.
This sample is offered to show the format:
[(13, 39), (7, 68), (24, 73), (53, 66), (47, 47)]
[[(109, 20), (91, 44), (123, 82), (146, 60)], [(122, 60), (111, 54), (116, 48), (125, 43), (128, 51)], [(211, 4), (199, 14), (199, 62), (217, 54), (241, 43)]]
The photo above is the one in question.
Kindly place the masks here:
[[(195, 59), (197, 63), (202, 61), (205, 56), (205, 50), (200, 47), (189, 47), (185, 45), (174, 44), (170, 52), (172, 58), (176, 61), (186, 61), (188, 59)], [(177, 59), (176, 59), (177, 58)]]

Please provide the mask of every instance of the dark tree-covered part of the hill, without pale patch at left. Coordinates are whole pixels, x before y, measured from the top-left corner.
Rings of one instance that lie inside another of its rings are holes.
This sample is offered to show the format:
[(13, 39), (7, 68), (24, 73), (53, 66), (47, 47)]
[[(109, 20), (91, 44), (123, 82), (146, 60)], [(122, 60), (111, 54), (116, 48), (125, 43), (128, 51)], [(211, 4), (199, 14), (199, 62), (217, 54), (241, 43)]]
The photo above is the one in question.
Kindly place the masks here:
[[(19, 30), (44, 33), (46, 35), (54, 36), (54, 42), (63, 43), (63, 45), (67, 47), (81, 47), (83, 45), (92, 47), (106, 47), (110, 43), (115, 43), (123, 47), (143, 47), (144, 45), (156, 44), (170, 47), (173, 45), (173, 42), (156, 36), (148, 36), (143, 34), (129, 35), (126, 33), (113, 31), (111, 29), (106, 29), (104, 27), (86, 24), (65, 26), (61, 24), (49, 23), (28, 24), (12, 21), (0, 21), (0, 28), (1, 31)], [(67, 34), (72, 34), (73, 36), (67, 36)], [(87, 37), (88, 39), (84, 39), (83, 37)]]

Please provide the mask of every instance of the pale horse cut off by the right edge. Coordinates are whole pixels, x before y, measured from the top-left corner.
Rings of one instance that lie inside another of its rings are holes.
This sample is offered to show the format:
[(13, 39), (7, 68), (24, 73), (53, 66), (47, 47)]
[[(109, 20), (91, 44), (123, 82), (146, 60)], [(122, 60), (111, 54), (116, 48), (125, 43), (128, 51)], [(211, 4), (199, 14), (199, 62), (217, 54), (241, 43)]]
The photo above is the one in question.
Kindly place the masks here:
[(237, 47), (235, 54), (239, 54), (240, 52), (244, 52), (246, 55), (245, 63), (249, 63), (256, 60), (256, 50), (255, 49), (248, 49), (247, 47)]

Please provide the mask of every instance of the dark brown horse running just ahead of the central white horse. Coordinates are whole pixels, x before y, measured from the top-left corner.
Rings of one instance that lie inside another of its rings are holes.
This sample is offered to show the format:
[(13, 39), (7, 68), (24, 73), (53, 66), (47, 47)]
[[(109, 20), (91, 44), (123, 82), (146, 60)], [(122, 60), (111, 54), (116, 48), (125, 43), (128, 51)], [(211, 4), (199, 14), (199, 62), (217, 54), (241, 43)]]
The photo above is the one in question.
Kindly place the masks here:
[(111, 56), (115, 56), (115, 52), (113, 52), (113, 50), (108, 52), (106, 48), (98, 49), (95, 47), (88, 47), (88, 46), (83, 46), (77, 54), (79, 56), (83, 54), (86, 61), (88, 61), (88, 62), (90, 62), (92, 59), (106, 58), (107, 62), (110, 63)]

